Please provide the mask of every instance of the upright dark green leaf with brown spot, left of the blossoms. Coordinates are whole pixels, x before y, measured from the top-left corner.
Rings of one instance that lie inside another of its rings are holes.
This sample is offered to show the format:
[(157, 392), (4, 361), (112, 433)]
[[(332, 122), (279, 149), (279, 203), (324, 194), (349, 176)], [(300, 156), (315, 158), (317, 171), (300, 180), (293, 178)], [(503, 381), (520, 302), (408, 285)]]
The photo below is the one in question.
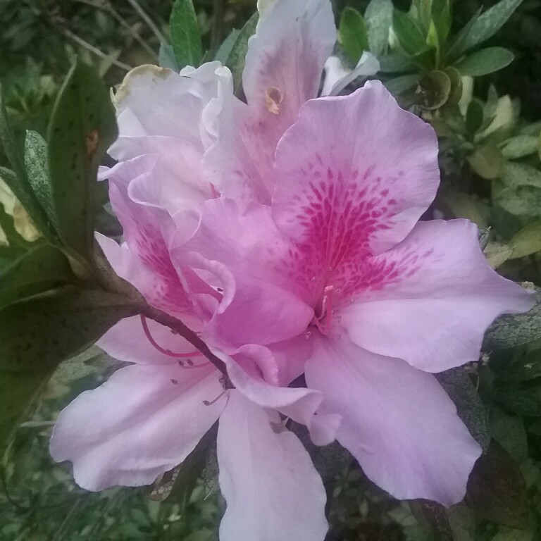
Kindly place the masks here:
[(92, 257), (94, 194), (101, 157), (118, 129), (108, 91), (94, 68), (77, 62), (49, 124), (49, 179), (58, 235), (83, 258)]

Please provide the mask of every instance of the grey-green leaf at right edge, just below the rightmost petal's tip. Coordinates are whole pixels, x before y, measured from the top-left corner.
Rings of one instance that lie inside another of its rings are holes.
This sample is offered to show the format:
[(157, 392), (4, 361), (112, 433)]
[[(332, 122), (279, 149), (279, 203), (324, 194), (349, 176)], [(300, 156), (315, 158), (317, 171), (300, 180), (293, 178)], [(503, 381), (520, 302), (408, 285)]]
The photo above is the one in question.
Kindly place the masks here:
[(485, 351), (517, 347), (541, 338), (541, 289), (532, 289), (537, 292), (533, 309), (526, 313), (499, 316), (485, 334)]

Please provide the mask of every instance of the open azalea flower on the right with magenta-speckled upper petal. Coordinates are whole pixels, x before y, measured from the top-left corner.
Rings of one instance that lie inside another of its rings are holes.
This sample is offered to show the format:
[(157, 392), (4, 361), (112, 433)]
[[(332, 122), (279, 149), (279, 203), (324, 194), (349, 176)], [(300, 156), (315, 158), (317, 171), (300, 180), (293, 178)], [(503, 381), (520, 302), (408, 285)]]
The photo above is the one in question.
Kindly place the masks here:
[(342, 418), (337, 440), (366, 475), (450, 505), (480, 447), (433, 373), (477, 360), (494, 318), (533, 299), (487, 265), (468, 220), (418, 222), (438, 183), (432, 128), (368, 82), (302, 106), (278, 144), (272, 204), (206, 201), (175, 257), (232, 275), (204, 338), (222, 352), (304, 339), (281, 362), (323, 393), (319, 413)]

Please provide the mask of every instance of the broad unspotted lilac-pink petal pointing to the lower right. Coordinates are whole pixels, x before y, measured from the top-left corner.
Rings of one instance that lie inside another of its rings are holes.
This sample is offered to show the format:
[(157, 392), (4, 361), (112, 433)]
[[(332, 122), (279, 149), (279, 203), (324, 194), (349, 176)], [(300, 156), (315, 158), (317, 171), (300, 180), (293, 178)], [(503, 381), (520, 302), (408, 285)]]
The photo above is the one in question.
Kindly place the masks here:
[(316, 337), (306, 383), (340, 413), (337, 440), (374, 483), (398, 499), (460, 502), (481, 453), (432, 374), (356, 347)]

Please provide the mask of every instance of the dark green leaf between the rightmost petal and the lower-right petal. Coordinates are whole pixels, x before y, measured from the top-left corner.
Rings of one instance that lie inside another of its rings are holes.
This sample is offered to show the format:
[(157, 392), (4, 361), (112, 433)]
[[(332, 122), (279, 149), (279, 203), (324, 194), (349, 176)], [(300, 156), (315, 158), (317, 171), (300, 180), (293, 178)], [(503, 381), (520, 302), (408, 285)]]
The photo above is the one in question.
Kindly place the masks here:
[(464, 368), (436, 374), (437, 380), (456, 405), (456, 411), (471, 435), (486, 452), (490, 444), (485, 406)]

